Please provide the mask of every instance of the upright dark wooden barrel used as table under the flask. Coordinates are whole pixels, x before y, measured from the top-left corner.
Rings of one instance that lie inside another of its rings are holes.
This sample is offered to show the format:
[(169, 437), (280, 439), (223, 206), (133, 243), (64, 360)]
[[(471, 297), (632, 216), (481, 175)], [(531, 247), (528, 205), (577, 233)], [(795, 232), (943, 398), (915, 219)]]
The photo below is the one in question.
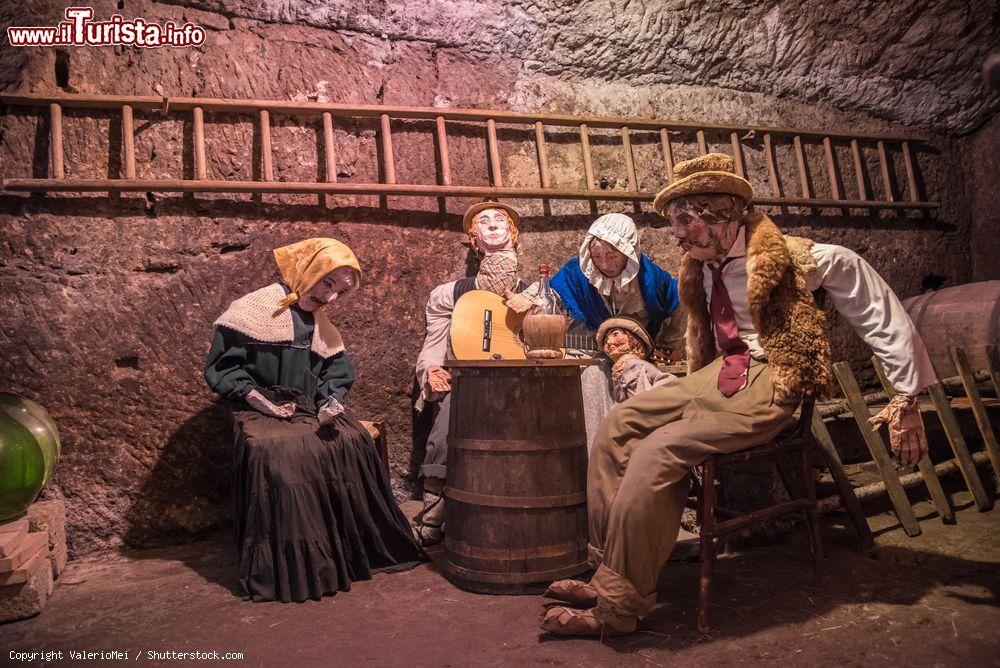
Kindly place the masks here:
[(451, 362), (445, 574), (537, 593), (587, 570), (580, 360)]

